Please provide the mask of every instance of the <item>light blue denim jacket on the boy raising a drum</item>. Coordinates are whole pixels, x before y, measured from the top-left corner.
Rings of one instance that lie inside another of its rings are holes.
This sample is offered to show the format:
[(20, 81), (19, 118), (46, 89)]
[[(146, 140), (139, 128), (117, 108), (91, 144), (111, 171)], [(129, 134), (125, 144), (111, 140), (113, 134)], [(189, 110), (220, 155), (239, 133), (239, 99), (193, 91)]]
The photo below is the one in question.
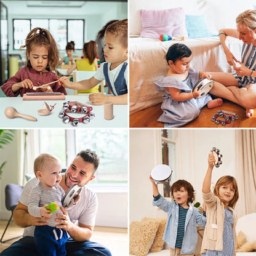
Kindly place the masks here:
[[(198, 231), (196, 224), (202, 227), (206, 226), (206, 217), (201, 214), (199, 209), (193, 207), (191, 203), (189, 203), (189, 205), (190, 208), (186, 214), (185, 233), (182, 242), (182, 254), (193, 254), (194, 250), (196, 249), (196, 244), (198, 242)], [(170, 202), (161, 196), (157, 201), (153, 201), (153, 206), (158, 206), (160, 209), (164, 210), (164, 212), (167, 212), (168, 219), (163, 240), (171, 248), (175, 248), (178, 230), (177, 202)]]

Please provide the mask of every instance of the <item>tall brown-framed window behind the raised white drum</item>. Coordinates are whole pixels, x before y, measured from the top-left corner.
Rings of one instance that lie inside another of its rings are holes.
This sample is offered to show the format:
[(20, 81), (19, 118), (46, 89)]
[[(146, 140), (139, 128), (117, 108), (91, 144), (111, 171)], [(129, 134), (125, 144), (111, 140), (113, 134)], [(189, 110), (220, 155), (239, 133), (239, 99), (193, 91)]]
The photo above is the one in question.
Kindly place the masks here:
[[(175, 149), (175, 131), (162, 130), (162, 164), (167, 164), (173, 170), (172, 180), (175, 180), (176, 169), (176, 149)], [(170, 184), (164, 183), (164, 197), (170, 198)]]

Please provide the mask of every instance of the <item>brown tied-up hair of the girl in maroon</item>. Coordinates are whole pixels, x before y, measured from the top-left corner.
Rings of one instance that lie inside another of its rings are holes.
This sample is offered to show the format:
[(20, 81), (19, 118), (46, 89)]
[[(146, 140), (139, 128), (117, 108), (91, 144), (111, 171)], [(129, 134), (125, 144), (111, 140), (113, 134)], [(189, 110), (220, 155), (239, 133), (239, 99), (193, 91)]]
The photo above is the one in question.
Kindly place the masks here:
[[(57, 44), (48, 30), (45, 30), (44, 28), (33, 28), (33, 30), (28, 33), (28, 36), (26, 36), (25, 45), (21, 46), (20, 49), (26, 48), (26, 54), (30, 54), (35, 46), (45, 46), (47, 48), (48, 64), (46, 69), (48, 71), (55, 70), (58, 66), (59, 52)], [(30, 60), (28, 60), (28, 57), (26, 57), (26, 66), (31, 68), (31, 63)]]

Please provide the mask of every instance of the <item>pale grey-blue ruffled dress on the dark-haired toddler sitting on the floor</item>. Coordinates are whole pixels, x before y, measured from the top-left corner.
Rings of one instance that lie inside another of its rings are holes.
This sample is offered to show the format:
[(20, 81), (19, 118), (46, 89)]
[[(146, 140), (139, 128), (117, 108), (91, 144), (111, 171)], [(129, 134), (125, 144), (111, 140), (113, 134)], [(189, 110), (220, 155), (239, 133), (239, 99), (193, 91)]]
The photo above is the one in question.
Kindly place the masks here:
[(197, 118), (200, 110), (205, 106), (212, 97), (209, 94), (202, 98), (191, 98), (185, 102), (177, 102), (170, 95), (165, 87), (175, 87), (180, 89), (181, 92), (192, 92), (194, 84), (199, 80), (199, 72), (188, 69), (188, 77), (182, 81), (174, 76), (165, 76), (164, 78), (156, 81), (156, 89), (161, 92), (166, 92), (162, 97), (162, 115), (158, 119), (159, 122), (164, 122), (164, 127), (180, 127), (193, 119)]

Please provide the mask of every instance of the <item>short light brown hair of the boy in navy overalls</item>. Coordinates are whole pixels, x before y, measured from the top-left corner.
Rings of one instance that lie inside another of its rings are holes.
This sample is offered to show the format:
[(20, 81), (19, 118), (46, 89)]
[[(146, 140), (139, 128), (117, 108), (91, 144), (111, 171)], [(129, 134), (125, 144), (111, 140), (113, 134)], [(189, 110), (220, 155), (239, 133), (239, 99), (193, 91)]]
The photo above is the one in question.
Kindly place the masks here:
[(127, 33), (128, 30), (128, 20), (118, 20), (106, 28), (105, 34), (113, 34), (115, 38), (118, 38), (122, 44), (122, 47), (127, 48)]

